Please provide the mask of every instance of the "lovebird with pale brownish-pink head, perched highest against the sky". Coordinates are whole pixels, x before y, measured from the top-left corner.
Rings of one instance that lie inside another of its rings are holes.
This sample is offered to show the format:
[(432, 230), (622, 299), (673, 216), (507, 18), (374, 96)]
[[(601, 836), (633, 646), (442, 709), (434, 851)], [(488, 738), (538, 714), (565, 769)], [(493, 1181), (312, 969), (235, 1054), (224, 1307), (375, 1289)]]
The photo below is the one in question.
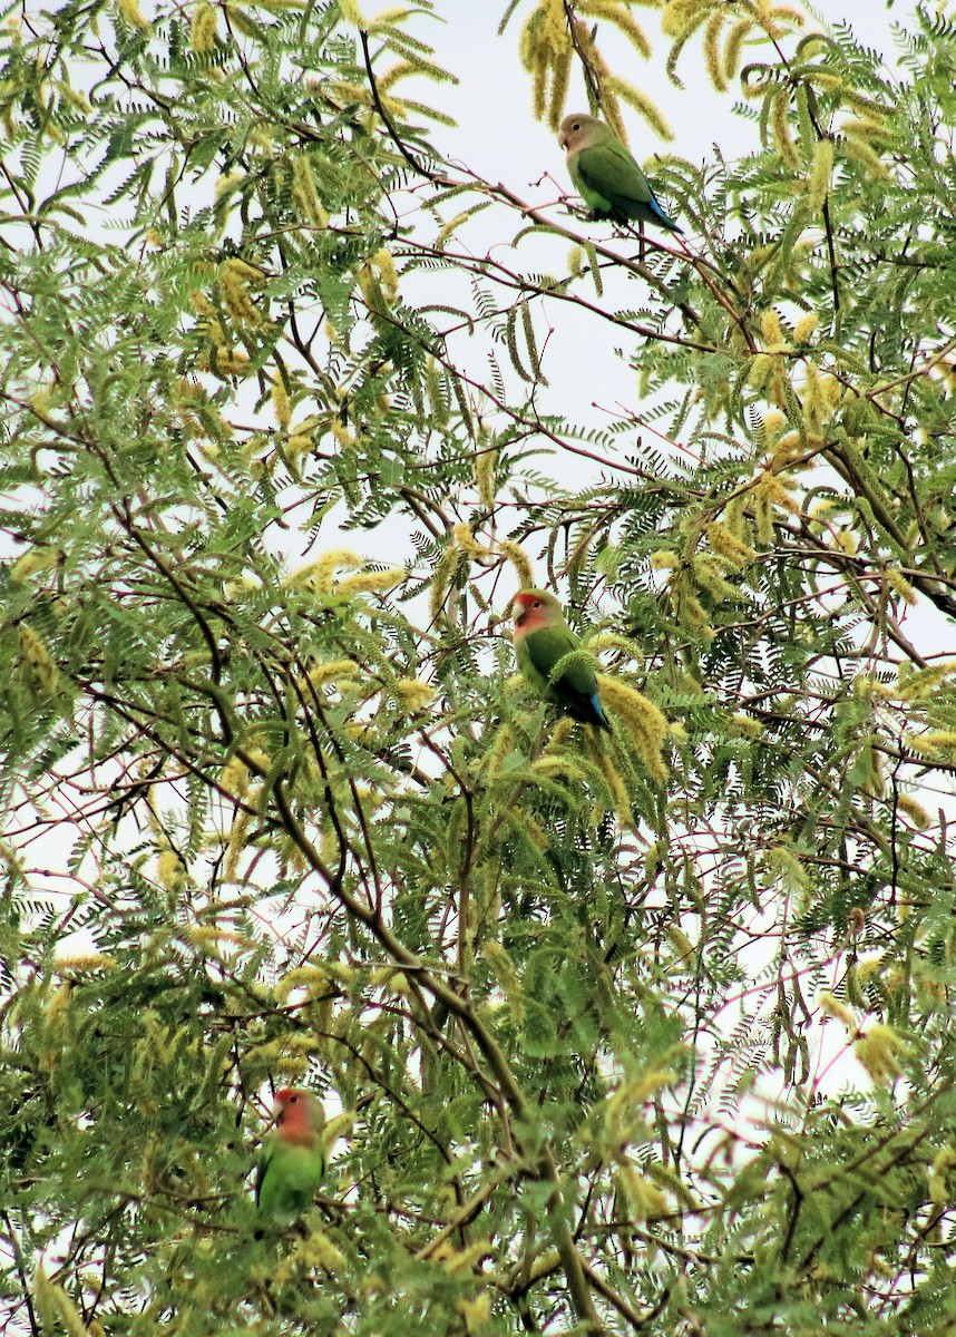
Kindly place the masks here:
[(647, 178), (603, 120), (584, 112), (566, 116), (558, 143), (567, 148), (575, 190), (596, 218), (612, 218), (618, 223), (634, 219), (656, 223), (671, 233), (683, 231), (665, 214)]

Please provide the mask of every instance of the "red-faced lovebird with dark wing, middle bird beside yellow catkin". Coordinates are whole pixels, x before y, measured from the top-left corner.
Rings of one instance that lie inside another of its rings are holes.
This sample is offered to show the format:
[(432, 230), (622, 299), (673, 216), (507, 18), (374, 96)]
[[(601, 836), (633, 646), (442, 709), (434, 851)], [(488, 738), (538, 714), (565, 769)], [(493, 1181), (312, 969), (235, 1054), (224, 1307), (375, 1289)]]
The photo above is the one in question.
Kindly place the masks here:
[(560, 603), (547, 590), (521, 590), (515, 595), (515, 655), (517, 667), (546, 701), (560, 706), (572, 719), (596, 725), (611, 733), (598, 697), (594, 668), (572, 663), (555, 682), (551, 671), (559, 659), (580, 647), (580, 640), (564, 620)]

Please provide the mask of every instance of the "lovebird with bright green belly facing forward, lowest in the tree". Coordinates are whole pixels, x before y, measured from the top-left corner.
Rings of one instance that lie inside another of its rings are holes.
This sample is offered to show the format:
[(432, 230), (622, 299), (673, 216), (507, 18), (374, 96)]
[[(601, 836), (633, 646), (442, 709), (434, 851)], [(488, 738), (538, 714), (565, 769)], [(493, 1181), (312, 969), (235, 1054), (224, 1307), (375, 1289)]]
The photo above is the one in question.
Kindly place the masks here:
[(273, 1106), (255, 1174), (255, 1205), (267, 1217), (298, 1217), (325, 1174), (325, 1110), (312, 1091), (285, 1087)]

